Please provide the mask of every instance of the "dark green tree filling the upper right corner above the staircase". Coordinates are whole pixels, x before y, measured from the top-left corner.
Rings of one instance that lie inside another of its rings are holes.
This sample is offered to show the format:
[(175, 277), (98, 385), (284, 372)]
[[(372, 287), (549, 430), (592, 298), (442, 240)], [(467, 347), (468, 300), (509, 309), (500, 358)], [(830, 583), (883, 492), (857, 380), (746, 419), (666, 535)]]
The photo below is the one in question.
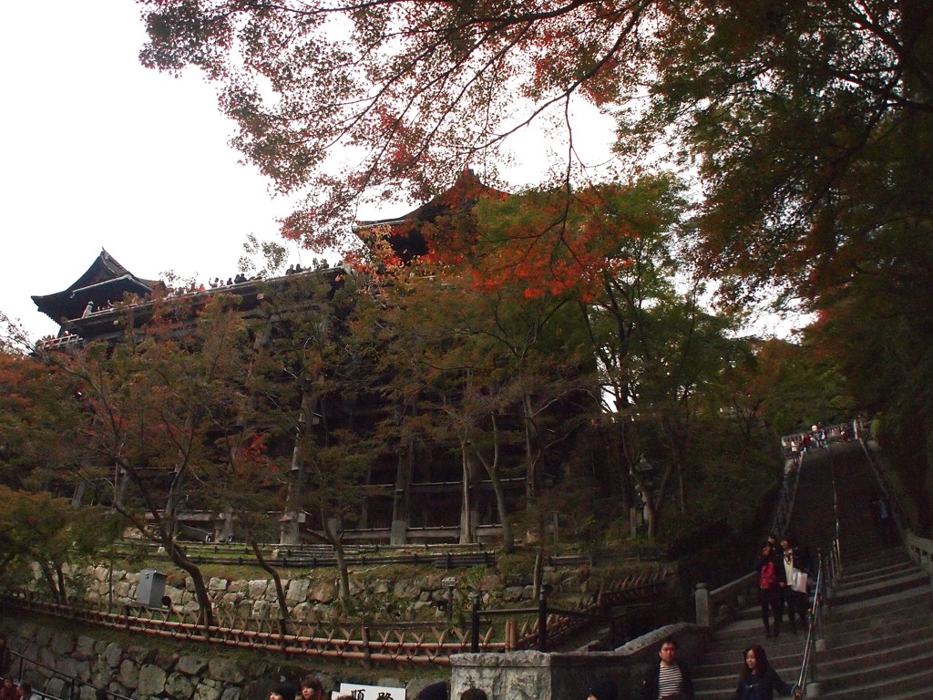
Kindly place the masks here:
[(920, 0), (677, 7), (651, 105), (623, 130), (647, 145), (664, 128), (695, 159), (706, 273), (733, 300), (776, 287), (820, 315), (808, 351), (832, 352), (847, 393), (892, 418), (926, 504), (931, 49)]

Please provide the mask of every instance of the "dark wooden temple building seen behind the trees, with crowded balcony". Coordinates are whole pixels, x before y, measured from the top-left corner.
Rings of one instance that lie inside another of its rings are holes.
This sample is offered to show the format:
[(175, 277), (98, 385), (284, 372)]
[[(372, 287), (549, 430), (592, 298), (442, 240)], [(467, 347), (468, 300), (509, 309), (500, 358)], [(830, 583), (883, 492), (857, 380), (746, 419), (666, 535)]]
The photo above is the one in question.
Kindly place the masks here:
[[(508, 195), (482, 185), (472, 171), (466, 170), (453, 188), (431, 202), (400, 217), (361, 221), (356, 231), (361, 235), (367, 230), (388, 231), (387, 240), (397, 257), (410, 262), (428, 251), (422, 231), (425, 224), (432, 224), (438, 217), (454, 209), (471, 208), (483, 196)], [(279, 323), (275, 319), (302, 313), (300, 302), (295, 306), (294, 301), (289, 301), (292, 305), (287, 313), (277, 310), (275, 305), (282, 303), (281, 300), (287, 295), (277, 293), (276, 290), (285, 290), (295, 286), (299, 278), (311, 279), (312, 276), (333, 287), (339, 284), (341, 275), (348, 273), (342, 268), (327, 268), (300, 275), (245, 281), (218, 289), (195, 289), (187, 291), (183, 296), (192, 304), (192, 308), (196, 308), (218, 291), (234, 294), (240, 297), (234, 313), (275, 324)], [(171, 293), (159, 281), (137, 277), (102, 250), (88, 271), (74, 284), (56, 294), (33, 297), (38, 310), (62, 326), (58, 338), (41, 344), (44, 349), (65, 349), (66, 346), (84, 341), (116, 342), (126, 331), (124, 324), (128, 317), (132, 318), (132, 324), (145, 324), (152, 315), (155, 301)], [(127, 308), (132, 308), (132, 315), (125, 313)], [(190, 317), (195, 318), (196, 315)], [(287, 328), (287, 324), (280, 324), (275, 329), (270, 326), (270, 333), (286, 332), (280, 328)], [(371, 429), (385, 413), (393, 410), (388, 399), (384, 399), (378, 392), (370, 392), (355, 399), (303, 396), (302, 406), (308, 400), (313, 400), (314, 415), (321, 420), (326, 419), (332, 426), (354, 429)], [(555, 410), (573, 411), (572, 403), (568, 401), (564, 408), (558, 405)], [(296, 406), (295, 410), (303, 409)], [(521, 419), (517, 416), (504, 414), (502, 421), (505, 427), (520, 431)], [(286, 449), (290, 452), (293, 447), (282, 445), (279, 453), (285, 454)], [(508, 503), (512, 508), (517, 508), (526, 494), (524, 470), (520, 467), (522, 450), (517, 446), (511, 449), (507, 445), (503, 458), (517, 467), (511, 471), (505, 469), (510, 476), (502, 480)], [(560, 455), (554, 461), (559, 462)], [(300, 471), (299, 467), (293, 469)], [(347, 542), (392, 545), (498, 539), (502, 527), (493, 484), (481, 467), (476, 465), (473, 473), (468, 476), (470, 507), (465, 512), (466, 478), (463, 461), (449, 444), (413, 442), (406, 449), (378, 455), (366, 475), (366, 496), (360, 504), (360, 513), (352, 529), (343, 531), (343, 539)], [(216, 513), (191, 510), (178, 513), (177, 517), (181, 522), (178, 530), (180, 535), (189, 539), (210, 538), (216, 541), (235, 535), (235, 526)], [(316, 517), (313, 513), (297, 511), (281, 514), (280, 542), (295, 544), (306, 540), (309, 529), (316, 530), (322, 526)]]

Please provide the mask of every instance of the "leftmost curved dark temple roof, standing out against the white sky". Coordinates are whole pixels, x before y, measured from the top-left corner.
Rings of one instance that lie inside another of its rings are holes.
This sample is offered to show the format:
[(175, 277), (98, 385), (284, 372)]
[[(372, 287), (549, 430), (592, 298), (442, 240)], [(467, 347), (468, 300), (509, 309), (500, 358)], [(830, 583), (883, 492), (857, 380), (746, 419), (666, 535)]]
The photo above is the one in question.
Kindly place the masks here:
[(122, 301), (126, 293), (137, 294), (145, 299), (160, 284), (155, 280), (137, 277), (102, 248), (88, 271), (78, 277), (71, 287), (55, 294), (34, 296), (33, 301), (39, 311), (56, 323), (62, 323), (63, 319), (80, 318), (88, 301), (93, 301), (94, 307), (100, 309), (108, 302)]

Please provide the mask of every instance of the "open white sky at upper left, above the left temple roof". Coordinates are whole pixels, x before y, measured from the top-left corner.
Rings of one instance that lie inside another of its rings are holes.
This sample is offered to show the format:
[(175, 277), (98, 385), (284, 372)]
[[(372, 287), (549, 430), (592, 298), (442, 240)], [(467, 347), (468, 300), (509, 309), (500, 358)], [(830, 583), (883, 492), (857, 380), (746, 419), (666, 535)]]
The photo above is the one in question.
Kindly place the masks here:
[(288, 203), (228, 147), (213, 89), (143, 68), (144, 38), (132, 0), (4, 8), (0, 310), (34, 340), (58, 326), (31, 295), (71, 285), (102, 247), (141, 277), (206, 281), (236, 273), (249, 233), (281, 240)]

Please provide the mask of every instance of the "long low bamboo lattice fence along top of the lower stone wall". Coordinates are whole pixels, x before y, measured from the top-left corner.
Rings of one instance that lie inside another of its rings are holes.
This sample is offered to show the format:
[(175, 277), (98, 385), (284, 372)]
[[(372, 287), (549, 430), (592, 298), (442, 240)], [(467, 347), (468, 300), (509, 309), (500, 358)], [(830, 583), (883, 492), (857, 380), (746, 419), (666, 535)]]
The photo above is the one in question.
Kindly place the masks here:
[[(442, 621), (425, 623), (320, 623), (316, 621), (244, 617), (235, 611), (216, 610), (216, 623), (203, 625), (197, 611), (146, 608), (135, 605), (80, 603), (62, 605), (36, 595), (16, 593), (2, 599), (5, 609), (21, 609), (120, 629), (130, 633), (170, 637), (253, 651), (321, 656), (335, 660), (386, 663), (450, 663), (454, 653), (534, 649), (537, 642), (551, 643), (592, 623), (607, 607), (628, 602), (659, 600), (664, 595), (668, 572), (653, 572), (611, 581), (593, 595), (578, 601), (577, 609), (552, 610), (542, 617), (539, 609), (482, 611), (468, 624)], [(507, 621), (508, 620), (508, 624)], [(545, 624), (542, 635), (540, 626)], [(518, 631), (508, 639), (508, 628)]]

